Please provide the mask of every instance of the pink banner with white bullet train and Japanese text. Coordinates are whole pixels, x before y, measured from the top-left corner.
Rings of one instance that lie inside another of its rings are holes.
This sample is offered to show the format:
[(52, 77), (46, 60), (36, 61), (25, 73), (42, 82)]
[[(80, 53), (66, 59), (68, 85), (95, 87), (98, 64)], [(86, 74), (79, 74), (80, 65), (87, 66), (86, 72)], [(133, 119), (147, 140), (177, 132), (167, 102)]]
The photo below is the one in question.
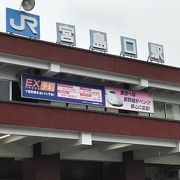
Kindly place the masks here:
[(106, 107), (153, 113), (153, 96), (149, 93), (105, 87)]

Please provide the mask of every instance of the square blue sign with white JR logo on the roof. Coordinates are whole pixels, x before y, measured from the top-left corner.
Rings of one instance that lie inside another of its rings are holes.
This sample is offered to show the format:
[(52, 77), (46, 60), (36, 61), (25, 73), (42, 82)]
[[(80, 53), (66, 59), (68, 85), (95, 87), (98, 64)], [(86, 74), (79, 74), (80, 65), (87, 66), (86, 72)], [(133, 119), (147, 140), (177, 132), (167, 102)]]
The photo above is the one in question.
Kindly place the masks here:
[(6, 31), (40, 39), (40, 17), (23, 11), (7, 8)]

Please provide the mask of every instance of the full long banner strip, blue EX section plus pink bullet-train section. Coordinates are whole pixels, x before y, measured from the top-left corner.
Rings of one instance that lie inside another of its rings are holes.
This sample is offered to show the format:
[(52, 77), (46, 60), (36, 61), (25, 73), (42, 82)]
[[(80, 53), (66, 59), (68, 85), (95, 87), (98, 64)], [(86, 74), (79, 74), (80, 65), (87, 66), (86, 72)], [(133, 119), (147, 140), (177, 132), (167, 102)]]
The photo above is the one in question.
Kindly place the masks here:
[(21, 75), (21, 97), (153, 113), (150, 93)]

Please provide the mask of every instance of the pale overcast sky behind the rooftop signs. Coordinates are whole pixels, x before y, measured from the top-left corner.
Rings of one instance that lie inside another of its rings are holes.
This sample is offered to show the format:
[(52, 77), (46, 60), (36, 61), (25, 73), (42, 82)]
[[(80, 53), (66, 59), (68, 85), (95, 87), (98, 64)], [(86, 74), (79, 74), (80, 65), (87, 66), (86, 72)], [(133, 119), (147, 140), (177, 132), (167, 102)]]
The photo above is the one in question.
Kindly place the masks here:
[[(6, 7), (0, 1), (0, 31), (6, 32)], [(164, 46), (165, 64), (180, 67), (180, 0), (36, 0), (41, 39), (56, 42), (56, 22), (75, 25), (77, 47), (89, 48), (89, 29), (107, 33), (108, 53), (119, 55), (120, 36), (137, 40), (138, 59), (147, 60), (148, 42)]]

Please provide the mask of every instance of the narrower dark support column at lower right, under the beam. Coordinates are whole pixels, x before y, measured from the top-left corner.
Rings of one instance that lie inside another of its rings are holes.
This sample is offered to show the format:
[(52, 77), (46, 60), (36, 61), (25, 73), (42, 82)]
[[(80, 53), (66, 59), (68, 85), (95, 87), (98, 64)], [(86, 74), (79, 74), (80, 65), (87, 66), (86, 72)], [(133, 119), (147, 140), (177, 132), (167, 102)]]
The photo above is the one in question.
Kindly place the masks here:
[(144, 180), (145, 170), (144, 161), (133, 160), (133, 152), (123, 153), (123, 167), (122, 167), (123, 180)]

